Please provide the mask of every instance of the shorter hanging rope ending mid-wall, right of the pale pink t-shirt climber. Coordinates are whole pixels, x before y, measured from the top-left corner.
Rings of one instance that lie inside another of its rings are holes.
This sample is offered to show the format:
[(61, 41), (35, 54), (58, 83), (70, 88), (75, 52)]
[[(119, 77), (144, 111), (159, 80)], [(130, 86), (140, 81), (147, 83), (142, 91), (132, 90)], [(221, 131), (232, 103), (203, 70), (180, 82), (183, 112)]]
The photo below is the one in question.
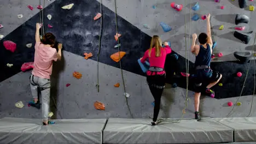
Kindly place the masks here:
[[(100, 11), (102, 14), (102, 0), (100, 3)], [(98, 38), (98, 55), (97, 55), (97, 91), (100, 92), (100, 83), (99, 83), (99, 74), (98, 74), (98, 64), (100, 61), (100, 52), (101, 52), (101, 35), (102, 35), (102, 16), (101, 16), (101, 28), (100, 28), (100, 37)]]

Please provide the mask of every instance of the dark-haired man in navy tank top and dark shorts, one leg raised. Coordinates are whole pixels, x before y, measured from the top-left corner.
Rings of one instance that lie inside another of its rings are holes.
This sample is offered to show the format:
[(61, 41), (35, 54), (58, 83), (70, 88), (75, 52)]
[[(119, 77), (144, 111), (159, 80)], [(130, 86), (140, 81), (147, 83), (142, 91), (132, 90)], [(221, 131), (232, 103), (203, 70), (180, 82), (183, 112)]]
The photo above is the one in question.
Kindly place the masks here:
[(196, 45), (197, 35), (193, 34), (191, 52), (196, 56), (195, 60), (195, 119), (200, 119), (199, 102), (201, 92), (214, 98), (214, 92), (210, 89), (222, 79), (218, 71), (213, 71), (210, 67), (212, 55), (212, 35), (210, 25), (210, 14), (206, 15), (207, 33), (199, 34), (200, 45)]

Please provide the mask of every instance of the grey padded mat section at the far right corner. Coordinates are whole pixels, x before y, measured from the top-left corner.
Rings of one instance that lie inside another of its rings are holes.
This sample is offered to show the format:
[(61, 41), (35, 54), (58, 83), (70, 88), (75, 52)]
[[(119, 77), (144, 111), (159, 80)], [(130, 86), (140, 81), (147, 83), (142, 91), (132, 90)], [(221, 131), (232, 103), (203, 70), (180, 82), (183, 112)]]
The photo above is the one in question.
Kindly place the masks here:
[(256, 143), (256, 117), (213, 118), (234, 129), (235, 142)]

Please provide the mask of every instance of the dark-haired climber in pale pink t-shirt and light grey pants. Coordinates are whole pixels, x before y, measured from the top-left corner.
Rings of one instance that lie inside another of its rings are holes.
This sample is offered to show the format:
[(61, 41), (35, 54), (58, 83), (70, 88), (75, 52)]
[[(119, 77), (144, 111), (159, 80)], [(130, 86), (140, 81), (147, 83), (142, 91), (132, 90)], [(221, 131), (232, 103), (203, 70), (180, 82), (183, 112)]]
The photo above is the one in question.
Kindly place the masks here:
[(34, 46), (34, 69), (30, 76), (31, 93), (33, 101), (29, 105), (40, 109), (38, 93), (42, 98), (43, 125), (53, 124), (48, 121), (49, 104), (50, 104), (50, 76), (53, 70), (53, 61), (61, 60), (62, 44), (58, 45), (58, 52), (53, 48), (55, 36), (52, 33), (46, 33), (40, 40), (40, 24), (36, 25), (36, 45)]

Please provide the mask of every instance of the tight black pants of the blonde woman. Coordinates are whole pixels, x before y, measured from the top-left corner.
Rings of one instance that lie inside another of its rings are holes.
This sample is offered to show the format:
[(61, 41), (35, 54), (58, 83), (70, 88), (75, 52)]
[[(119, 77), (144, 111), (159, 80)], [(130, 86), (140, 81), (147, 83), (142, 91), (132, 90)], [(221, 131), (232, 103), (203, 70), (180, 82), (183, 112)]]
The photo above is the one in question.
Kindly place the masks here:
[(164, 87), (165, 87), (165, 75), (147, 76), (147, 82), (148, 82), (150, 92), (152, 93), (155, 99), (153, 122), (156, 122), (156, 119), (158, 119), (158, 114), (160, 110), (162, 92), (164, 91)]

